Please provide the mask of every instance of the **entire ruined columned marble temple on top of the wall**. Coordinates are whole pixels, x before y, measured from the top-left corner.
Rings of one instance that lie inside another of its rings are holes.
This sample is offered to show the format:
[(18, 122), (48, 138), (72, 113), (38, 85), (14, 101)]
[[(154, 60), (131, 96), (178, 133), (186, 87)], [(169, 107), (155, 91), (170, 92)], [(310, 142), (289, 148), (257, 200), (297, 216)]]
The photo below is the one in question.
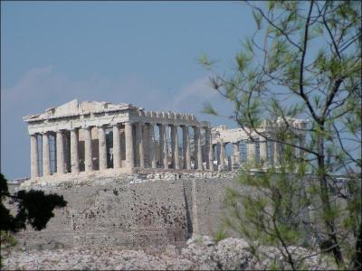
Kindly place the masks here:
[[(189, 114), (77, 99), (26, 116), (24, 121), (31, 136), (32, 179), (109, 169), (225, 171), (245, 160), (278, 164), (281, 156), (279, 144), (267, 140), (275, 129), (267, 122), (258, 133), (248, 133), (242, 128), (213, 128)], [(303, 145), (306, 121), (290, 119), (289, 123), (299, 135), (297, 144)], [(227, 144), (233, 144), (231, 155)]]

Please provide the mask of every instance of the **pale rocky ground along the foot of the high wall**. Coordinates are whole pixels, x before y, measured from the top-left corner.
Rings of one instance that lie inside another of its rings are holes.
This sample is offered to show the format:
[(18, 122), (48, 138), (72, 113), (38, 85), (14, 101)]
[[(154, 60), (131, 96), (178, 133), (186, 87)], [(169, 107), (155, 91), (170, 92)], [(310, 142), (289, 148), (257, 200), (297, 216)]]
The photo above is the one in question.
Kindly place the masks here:
[[(194, 236), (185, 248), (167, 246), (162, 252), (144, 250), (119, 250), (110, 248), (46, 249), (32, 252), (2, 253), (4, 268), (9, 270), (261, 270), (279, 259), (276, 248), (262, 247), (271, 258), (257, 260), (242, 238), (225, 238), (217, 243), (207, 236)], [(305, 267), (311, 270), (334, 269), (320, 256), (312, 256), (305, 248), (294, 248), (295, 255), (310, 257)], [(282, 263), (282, 261), (281, 261)], [(288, 267), (287, 263), (283, 263)]]

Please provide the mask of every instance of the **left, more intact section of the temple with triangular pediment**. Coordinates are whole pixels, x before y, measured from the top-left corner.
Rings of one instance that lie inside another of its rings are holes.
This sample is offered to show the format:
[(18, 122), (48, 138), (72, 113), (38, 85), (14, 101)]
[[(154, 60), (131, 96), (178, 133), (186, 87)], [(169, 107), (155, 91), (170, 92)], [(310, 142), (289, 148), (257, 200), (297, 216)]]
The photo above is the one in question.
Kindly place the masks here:
[[(42, 114), (26, 116), (24, 121), (31, 135), (32, 179), (39, 177), (41, 172), (43, 176), (49, 176), (52, 172), (57, 175), (78, 174), (108, 168), (124, 172), (135, 167), (171, 166), (176, 170), (191, 170), (191, 156), (195, 157), (193, 169), (202, 170), (200, 129), (205, 130), (202, 134), (205, 135), (205, 145), (211, 144), (210, 124), (198, 121), (194, 115), (146, 111), (130, 104), (79, 103), (74, 99)], [(170, 148), (167, 148), (167, 129), (171, 135)], [(182, 129), (183, 135), (182, 157), (178, 147), (179, 129)], [(190, 150), (190, 129), (194, 135), (193, 154)], [(107, 136), (110, 134), (111, 138)], [(51, 170), (51, 150), (54, 150), (55, 156), (54, 170)], [(207, 162), (206, 168), (209, 167)]]

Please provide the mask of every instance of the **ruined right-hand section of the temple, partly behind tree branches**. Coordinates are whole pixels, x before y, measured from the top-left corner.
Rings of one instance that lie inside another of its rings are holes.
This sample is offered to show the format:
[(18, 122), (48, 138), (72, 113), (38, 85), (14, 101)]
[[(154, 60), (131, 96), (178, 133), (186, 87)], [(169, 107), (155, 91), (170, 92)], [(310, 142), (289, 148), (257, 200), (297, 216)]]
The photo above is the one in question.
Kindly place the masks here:
[[(232, 170), (243, 163), (259, 164), (262, 167), (278, 166), (283, 158), (283, 146), (291, 145), (295, 158), (305, 158), (305, 147), (308, 120), (288, 117), (278, 118), (275, 123), (264, 121), (256, 129), (239, 127), (227, 129), (226, 126), (212, 128), (212, 145), (216, 153), (219, 170)], [(282, 131), (292, 136), (288, 140), (278, 138)], [(232, 145), (227, 154), (227, 145)]]

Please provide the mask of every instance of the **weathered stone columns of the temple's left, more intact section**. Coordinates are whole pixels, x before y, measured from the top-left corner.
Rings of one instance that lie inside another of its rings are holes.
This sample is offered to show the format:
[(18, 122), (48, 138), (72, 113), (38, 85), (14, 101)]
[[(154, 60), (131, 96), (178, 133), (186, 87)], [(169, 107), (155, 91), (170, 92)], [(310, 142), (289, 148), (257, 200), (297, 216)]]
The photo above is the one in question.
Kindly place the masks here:
[[(135, 138), (133, 138), (133, 125), (135, 125)], [(159, 145), (160, 145), (160, 164), (163, 168), (168, 168), (167, 159), (167, 129), (166, 125), (158, 124), (159, 128)], [(157, 168), (156, 149), (155, 149), (155, 124), (151, 123), (124, 123), (125, 127), (125, 146), (126, 146), (126, 164), (127, 168), (140, 167), (145, 168), (145, 160), (148, 160), (149, 167)], [(194, 158), (195, 169), (203, 170), (202, 155), (202, 138), (200, 128), (194, 128)], [(92, 145), (91, 145), (91, 126), (83, 128), (84, 135), (84, 170), (89, 173), (93, 170), (92, 162)], [(99, 164), (100, 170), (108, 168), (107, 164), (107, 145), (106, 145), (106, 126), (98, 127), (99, 139)], [(123, 166), (121, 163), (121, 144), (119, 134), (119, 124), (112, 126), (113, 130), (113, 168), (117, 169)], [(189, 126), (182, 126), (183, 131), (183, 168), (191, 170), (191, 150), (189, 138)], [(79, 128), (71, 129), (71, 173), (80, 173), (80, 157), (79, 157)], [(64, 159), (64, 133), (62, 130), (56, 132), (56, 172), (63, 174), (66, 172)], [(135, 142), (134, 142), (135, 141)], [(49, 133), (43, 133), (43, 176), (51, 174), (50, 170), (50, 152), (49, 152)], [(134, 144), (135, 143), (135, 144)], [(31, 135), (31, 176), (39, 177), (38, 173), (38, 146), (37, 135)], [(134, 145), (136, 149), (134, 149)], [(214, 170), (214, 150), (211, 140), (211, 128), (205, 127), (205, 150), (208, 152), (206, 167)], [(177, 126), (171, 125), (171, 150), (172, 164), (174, 169), (181, 168), (178, 149)], [(148, 156), (148, 157), (146, 157)]]

